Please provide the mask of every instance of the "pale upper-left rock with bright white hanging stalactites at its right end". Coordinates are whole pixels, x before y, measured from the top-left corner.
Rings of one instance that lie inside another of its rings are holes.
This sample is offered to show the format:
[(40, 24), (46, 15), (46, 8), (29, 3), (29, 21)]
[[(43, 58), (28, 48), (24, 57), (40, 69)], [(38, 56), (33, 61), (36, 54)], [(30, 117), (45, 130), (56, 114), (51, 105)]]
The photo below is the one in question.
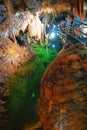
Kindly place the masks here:
[(0, 38), (9, 38), (15, 41), (15, 36), (19, 35), (19, 31), (26, 30), (30, 37), (40, 40), (44, 31), (43, 24), (39, 19), (38, 11), (36, 12), (17, 12), (13, 17), (8, 18), (0, 27)]

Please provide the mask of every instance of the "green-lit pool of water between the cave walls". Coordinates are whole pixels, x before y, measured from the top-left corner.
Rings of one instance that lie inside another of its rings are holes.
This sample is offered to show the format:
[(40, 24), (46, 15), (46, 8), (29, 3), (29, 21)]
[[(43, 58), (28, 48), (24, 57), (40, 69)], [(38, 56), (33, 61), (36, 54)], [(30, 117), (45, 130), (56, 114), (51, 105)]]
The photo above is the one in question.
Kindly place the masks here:
[(58, 52), (48, 49), (48, 57), (44, 46), (35, 45), (33, 50), (36, 55), (17, 69), (6, 83), (10, 89), (7, 103), (9, 130), (23, 130), (26, 124), (39, 120), (38, 97), (41, 77)]

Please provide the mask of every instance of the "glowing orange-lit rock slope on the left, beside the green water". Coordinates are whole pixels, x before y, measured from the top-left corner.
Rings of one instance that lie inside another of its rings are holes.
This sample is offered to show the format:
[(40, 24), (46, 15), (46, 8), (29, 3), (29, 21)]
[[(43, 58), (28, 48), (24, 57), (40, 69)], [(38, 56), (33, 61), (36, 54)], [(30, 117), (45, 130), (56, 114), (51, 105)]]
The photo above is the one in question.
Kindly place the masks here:
[(0, 41), (0, 83), (7, 75), (14, 72), (21, 64), (32, 56), (30, 48), (20, 46), (10, 39), (2, 38)]

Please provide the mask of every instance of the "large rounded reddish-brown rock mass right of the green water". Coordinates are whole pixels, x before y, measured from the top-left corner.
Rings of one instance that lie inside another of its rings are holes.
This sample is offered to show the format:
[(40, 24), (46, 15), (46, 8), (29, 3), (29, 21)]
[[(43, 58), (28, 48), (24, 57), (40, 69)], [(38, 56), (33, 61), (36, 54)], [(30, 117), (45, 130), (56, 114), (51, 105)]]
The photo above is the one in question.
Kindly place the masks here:
[(87, 49), (63, 49), (41, 80), (39, 116), (44, 130), (87, 129)]

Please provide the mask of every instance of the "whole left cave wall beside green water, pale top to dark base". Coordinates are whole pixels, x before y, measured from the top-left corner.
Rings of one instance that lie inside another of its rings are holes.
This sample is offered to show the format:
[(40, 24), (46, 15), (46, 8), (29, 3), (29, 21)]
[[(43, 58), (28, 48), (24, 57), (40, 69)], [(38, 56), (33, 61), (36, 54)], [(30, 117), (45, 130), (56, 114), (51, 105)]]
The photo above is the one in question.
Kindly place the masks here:
[[(5, 82), (9, 76), (16, 71), (23, 63), (31, 59), (34, 53), (29, 46), (20, 46), (15, 36), (19, 30), (27, 28), (27, 16), (20, 16), (20, 13), (14, 17), (8, 18), (0, 25), (0, 129), (7, 125), (7, 100), (9, 97), (9, 88), (5, 86)], [(21, 25), (20, 25), (20, 24)], [(6, 128), (7, 129), (7, 128)]]

